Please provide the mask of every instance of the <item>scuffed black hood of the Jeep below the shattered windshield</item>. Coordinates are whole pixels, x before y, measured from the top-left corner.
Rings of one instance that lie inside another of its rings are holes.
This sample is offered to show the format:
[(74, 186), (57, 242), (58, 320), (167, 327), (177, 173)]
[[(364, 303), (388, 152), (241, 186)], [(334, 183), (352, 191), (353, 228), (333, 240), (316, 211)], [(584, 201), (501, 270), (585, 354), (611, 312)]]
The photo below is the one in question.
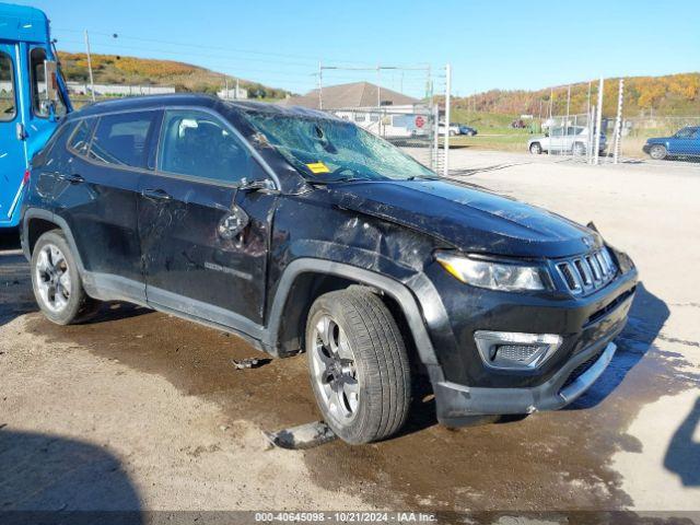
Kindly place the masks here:
[(464, 252), (567, 257), (602, 244), (595, 232), (556, 213), (445, 180), (332, 185), (335, 203), (432, 235)]

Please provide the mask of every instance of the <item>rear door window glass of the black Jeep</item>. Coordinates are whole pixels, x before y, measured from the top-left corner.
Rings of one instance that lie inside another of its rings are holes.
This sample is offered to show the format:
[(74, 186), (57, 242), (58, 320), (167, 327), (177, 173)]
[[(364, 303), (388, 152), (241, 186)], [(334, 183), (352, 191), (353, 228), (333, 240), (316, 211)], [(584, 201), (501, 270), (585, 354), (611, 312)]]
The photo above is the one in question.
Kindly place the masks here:
[(90, 158), (118, 166), (147, 166), (148, 138), (158, 112), (135, 112), (100, 117)]

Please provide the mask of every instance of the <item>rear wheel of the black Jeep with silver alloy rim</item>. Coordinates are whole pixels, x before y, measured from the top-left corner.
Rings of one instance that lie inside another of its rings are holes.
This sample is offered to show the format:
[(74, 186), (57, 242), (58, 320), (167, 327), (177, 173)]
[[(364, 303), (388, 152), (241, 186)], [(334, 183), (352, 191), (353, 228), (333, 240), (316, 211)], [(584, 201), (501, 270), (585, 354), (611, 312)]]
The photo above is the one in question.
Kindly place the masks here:
[(32, 288), (46, 317), (57, 325), (86, 320), (100, 310), (89, 298), (78, 265), (60, 230), (42, 235), (32, 254)]

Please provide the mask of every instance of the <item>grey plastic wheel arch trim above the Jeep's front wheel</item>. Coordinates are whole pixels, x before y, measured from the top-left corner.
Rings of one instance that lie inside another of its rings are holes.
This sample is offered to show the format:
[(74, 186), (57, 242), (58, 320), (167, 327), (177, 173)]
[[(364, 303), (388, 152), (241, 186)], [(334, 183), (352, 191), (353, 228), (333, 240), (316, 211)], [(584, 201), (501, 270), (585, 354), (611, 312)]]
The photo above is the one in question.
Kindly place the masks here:
[(418, 301), (406, 284), (374, 271), (324, 259), (300, 258), (287, 267), (270, 307), (265, 345), (279, 355), (295, 353), (303, 348), (306, 315), (313, 302), (323, 293), (351, 285), (376, 291), (399, 327), (410, 335), (406, 341), (409, 353), (416, 353), (424, 365), (438, 364)]

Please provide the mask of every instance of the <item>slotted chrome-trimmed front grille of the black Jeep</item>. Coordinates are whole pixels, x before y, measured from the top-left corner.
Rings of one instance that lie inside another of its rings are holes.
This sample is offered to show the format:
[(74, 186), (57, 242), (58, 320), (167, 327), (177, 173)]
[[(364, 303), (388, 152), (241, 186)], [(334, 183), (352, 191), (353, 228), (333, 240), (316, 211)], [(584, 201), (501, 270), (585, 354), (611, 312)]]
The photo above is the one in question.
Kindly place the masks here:
[(617, 273), (607, 248), (557, 262), (557, 270), (567, 289), (574, 294), (595, 292), (610, 282)]

